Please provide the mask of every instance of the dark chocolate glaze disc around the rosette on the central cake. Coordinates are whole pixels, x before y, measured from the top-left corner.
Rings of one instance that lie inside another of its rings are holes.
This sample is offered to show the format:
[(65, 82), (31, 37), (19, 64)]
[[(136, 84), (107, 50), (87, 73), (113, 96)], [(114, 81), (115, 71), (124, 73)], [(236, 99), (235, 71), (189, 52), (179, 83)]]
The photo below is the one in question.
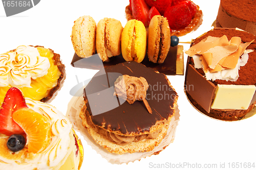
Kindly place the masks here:
[[(141, 101), (130, 105), (114, 94), (114, 82), (120, 75), (144, 77), (149, 85), (146, 100), (153, 113), (148, 113)], [(157, 122), (175, 113), (178, 99), (176, 91), (169, 87), (164, 74), (134, 61), (106, 66), (100, 69), (84, 88), (84, 98), (95, 125), (122, 134), (140, 134), (149, 131)], [(109, 108), (105, 109), (105, 108)]]

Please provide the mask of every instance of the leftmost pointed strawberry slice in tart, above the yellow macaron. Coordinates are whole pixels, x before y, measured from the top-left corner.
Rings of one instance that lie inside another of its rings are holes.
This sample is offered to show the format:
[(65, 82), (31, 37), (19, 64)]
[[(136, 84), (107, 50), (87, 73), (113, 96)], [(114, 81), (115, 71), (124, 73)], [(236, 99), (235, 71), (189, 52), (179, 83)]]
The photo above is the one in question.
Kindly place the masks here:
[(138, 19), (144, 23), (144, 26), (148, 26), (148, 12), (150, 7), (144, 0), (132, 0), (132, 11), (134, 19)]

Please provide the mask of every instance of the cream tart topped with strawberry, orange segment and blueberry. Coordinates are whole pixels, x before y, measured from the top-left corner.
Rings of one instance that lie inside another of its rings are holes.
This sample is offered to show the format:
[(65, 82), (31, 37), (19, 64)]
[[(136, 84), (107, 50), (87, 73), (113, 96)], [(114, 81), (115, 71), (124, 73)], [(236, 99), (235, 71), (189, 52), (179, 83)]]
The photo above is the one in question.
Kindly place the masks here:
[(25, 98), (10, 88), (0, 109), (1, 169), (74, 169), (83, 148), (69, 122), (55, 107)]

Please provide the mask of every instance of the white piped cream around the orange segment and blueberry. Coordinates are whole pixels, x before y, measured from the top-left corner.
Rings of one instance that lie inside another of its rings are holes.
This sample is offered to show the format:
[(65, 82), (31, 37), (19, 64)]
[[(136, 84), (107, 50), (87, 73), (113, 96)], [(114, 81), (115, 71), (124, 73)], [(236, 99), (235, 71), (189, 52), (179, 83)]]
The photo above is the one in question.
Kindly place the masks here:
[[(4, 151), (0, 146), (1, 169), (59, 169), (67, 158), (76, 151), (74, 133), (69, 120), (55, 107), (26, 98), (29, 108), (44, 115), (51, 124), (51, 141), (48, 147), (39, 153), (29, 153), (26, 148), (18, 152)], [(5, 136), (8, 138), (8, 136)], [(0, 141), (4, 136), (0, 135)], [(6, 153), (3, 155), (3, 153)]]

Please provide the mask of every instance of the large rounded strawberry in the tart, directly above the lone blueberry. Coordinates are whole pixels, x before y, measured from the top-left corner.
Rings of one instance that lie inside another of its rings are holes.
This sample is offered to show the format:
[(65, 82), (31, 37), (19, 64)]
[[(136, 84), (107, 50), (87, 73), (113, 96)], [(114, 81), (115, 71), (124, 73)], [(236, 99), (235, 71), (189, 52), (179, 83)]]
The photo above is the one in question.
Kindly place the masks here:
[(185, 28), (192, 20), (189, 8), (184, 4), (167, 7), (163, 16), (167, 18), (173, 30)]

